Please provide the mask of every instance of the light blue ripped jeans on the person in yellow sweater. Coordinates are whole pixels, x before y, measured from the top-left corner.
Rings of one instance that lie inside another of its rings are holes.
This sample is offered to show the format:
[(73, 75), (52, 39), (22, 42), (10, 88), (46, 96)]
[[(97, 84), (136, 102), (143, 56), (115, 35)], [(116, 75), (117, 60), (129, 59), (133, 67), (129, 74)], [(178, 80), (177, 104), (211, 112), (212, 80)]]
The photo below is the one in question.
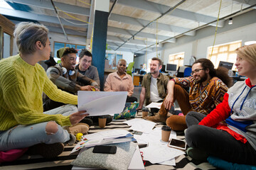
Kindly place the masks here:
[[(65, 105), (44, 112), (48, 115), (70, 115), (78, 111), (74, 105)], [(0, 151), (31, 147), (39, 143), (53, 144), (56, 142), (67, 142), (70, 140), (70, 134), (67, 130), (58, 125), (58, 131), (55, 134), (46, 134), (46, 125), (48, 122), (37, 123), (34, 125), (16, 125), (9, 130), (0, 131)]]

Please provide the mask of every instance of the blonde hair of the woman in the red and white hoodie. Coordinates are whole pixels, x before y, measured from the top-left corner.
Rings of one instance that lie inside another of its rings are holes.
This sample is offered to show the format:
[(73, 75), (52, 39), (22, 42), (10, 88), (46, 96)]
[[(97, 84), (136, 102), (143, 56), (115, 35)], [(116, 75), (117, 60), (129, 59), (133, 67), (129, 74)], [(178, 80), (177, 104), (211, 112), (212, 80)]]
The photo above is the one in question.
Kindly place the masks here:
[(256, 44), (239, 47), (235, 52), (239, 57), (256, 66)]

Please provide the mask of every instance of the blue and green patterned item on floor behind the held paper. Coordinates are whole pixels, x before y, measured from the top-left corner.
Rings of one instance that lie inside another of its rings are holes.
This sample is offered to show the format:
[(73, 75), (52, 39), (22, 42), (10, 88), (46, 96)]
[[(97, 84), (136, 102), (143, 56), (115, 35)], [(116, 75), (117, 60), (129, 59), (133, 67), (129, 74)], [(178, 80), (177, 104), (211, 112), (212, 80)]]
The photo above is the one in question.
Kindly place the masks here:
[(135, 118), (138, 106), (139, 103), (125, 103), (124, 111), (114, 114), (113, 119)]

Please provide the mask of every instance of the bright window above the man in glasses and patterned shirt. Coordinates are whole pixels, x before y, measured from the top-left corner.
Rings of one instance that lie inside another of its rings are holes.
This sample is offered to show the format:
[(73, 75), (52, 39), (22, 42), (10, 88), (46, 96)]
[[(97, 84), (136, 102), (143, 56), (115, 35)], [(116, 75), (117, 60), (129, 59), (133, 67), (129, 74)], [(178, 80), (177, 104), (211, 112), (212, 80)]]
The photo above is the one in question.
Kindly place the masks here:
[[(208, 47), (207, 58), (213, 62), (215, 69), (218, 67), (220, 61), (232, 62), (236, 61), (235, 49), (242, 46), (242, 41), (230, 42), (223, 45), (215, 45), (214, 47)], [(235, 64), (233, 70), (235, 70)]]

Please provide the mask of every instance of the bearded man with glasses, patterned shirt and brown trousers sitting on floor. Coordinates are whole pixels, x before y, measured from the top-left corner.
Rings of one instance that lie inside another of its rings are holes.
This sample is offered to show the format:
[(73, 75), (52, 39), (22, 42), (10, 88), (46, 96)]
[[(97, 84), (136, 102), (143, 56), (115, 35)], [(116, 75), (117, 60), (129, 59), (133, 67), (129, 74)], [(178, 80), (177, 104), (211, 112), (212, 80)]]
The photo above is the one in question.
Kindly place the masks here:
[[(166, 122), (172, 130), (185, 130), (186, 114), (196, 111), (207, 115), (223, 101), (228, 86), (232, 85), (232, 79), (228, 77), (228, 70), (223, 67), (214, 69), (214, 65), (208, 59), (199, 59), (193, 63), (191, 77), (174, 78), (168, 83), (168, 94), (164, 99), (159, 113), (146, 118), (154, 122)], [(182, 87), (189, 87), (189, 93)], [(171, 115), (167, 113), (178, 101), (183, 115)]]

